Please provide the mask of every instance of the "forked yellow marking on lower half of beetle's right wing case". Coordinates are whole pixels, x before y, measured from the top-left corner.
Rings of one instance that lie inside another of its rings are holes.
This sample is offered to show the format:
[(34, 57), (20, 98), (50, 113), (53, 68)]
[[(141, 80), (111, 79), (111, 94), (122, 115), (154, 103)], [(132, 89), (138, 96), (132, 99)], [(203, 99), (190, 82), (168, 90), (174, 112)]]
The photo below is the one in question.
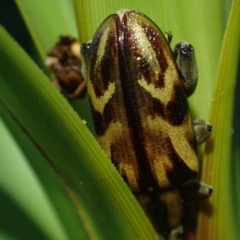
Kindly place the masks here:
[[(151, 139), (151, 136), (154, 136), (155, 138), (161, 137), (162, 139), (164, 139), (164, 137), (169, 137), (175, 152), (181, 159), (183, 159), (188, 168), (197, 172), (199, 168), (198, 159), (188, 142), (188, 139), (186, 138), (186, 132), (192, 132), (190, 121), (190, 115), (188, 115), (185, 123), (176, 127), (159, 117), (153, 119), (148, 116), (146, 119), (145, 130), (149, 134), (146, 135), (144, 142), (148, 158), (152, 159), (152, 172), (155, 175), (160, 187), (171, 185), (166, 175), (166, 169), (172, 169), (174, 163), (169, 160), (168, 152), (164, 153), (161, 148), (159, 149), (160, 152), (158, 152), (156, 145), (152, 143), (154, 139)], [(157, 132), (160, 133), (160, 136), (156, 135)], [(161, 141), (161, 138), (159, 141)], [(159, 144), (159, 142), (157, 142), (157, 144)]]

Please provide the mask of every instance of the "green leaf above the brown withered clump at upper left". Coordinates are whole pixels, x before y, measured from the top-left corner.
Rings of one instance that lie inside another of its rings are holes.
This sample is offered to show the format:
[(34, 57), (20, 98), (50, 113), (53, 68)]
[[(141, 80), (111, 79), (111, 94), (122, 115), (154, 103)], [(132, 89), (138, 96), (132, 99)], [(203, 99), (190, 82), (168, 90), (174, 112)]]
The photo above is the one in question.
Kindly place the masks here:
[(42, 61), (61, 35), (77, 36), (71, 1), (16, 0)]

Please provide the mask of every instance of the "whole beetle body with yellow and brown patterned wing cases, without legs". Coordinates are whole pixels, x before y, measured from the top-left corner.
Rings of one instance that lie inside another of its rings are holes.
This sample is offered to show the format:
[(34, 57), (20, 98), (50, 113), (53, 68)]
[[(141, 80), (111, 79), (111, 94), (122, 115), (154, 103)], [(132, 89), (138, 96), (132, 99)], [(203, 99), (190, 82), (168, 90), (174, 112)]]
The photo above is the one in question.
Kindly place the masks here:
[(177, 227), (178, 189), (197, 178), (199, 166), (186, 94), (167, 40), (144, 14), (124, 10), (107, 17), (81, 53), (100, 145), (148, 215), (155, 212), (150, 218), (160, 222), (157, 228)]

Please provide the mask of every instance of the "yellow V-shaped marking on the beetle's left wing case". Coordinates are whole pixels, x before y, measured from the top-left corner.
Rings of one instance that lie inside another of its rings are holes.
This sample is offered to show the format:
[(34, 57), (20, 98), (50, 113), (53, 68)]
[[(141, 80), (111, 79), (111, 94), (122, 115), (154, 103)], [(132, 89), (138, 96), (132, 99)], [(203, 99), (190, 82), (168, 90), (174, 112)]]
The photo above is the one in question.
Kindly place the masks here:
[(105, 90), (101, 97), (96, 96), (92, 83), (88, 82), (87, 88), (94, 109), (100, 113), (103, 113), (105, 105), (115, 92), (115, 83), (109, 83), (107, 90)]

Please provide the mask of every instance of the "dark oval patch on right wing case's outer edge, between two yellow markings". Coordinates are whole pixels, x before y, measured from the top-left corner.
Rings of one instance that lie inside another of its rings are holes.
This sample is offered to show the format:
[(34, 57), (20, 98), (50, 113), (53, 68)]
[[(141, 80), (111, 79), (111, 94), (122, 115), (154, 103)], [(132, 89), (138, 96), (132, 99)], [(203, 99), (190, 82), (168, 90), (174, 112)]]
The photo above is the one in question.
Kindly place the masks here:
[(187, 98), (180, 84), (174, 86), (171, 100), (166, 106), (166, 114), (168, 122), (174, 126), (182, 124), (188, 114)]

